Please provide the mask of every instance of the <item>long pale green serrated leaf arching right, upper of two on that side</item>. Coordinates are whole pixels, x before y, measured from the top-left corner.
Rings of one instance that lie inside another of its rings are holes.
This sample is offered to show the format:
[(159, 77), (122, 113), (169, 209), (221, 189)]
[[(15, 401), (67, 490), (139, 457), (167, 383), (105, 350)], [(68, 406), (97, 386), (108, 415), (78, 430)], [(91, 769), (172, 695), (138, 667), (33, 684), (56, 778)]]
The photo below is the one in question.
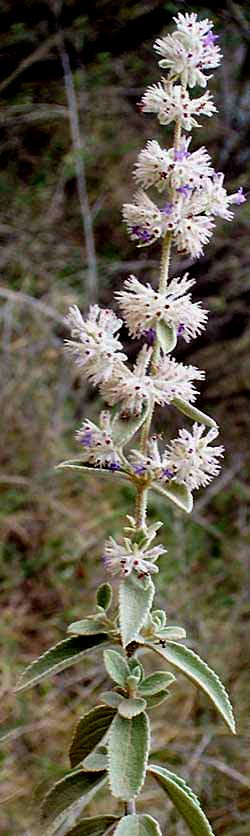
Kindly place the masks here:
[(168, 642), (166, 647), (149, 646), (208, 694), (230, 731), (235, 734), (234, 716), (227, 692), (217, 674), (208, 667), (206, 662), (203, 662), (189, 647), (176, 644), (176, 642)]

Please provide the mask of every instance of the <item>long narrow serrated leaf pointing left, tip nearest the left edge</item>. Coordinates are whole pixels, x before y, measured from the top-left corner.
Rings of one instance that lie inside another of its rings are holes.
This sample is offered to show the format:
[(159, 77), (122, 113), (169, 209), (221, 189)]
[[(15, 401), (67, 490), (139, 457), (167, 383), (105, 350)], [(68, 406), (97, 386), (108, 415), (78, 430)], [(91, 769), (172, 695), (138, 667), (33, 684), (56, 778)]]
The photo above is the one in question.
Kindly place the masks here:
[(106, 643), (107, 636), (105, 633), (99, 633), (96, 636), (74, 636), (70, 639), (64, 639), (64, 641), (43, 653), (42, 656), (39, 656), (35, 662), (32, 662), (23, 671), (15, 690), (24, 691), (26, 688), (33, 688), (33, 685), (40, 682), (44, 676), (59, 673), (59, 671), (69, 668), (70, 665), (80, 662), (85, 653), (89, 653), (94, 648)]

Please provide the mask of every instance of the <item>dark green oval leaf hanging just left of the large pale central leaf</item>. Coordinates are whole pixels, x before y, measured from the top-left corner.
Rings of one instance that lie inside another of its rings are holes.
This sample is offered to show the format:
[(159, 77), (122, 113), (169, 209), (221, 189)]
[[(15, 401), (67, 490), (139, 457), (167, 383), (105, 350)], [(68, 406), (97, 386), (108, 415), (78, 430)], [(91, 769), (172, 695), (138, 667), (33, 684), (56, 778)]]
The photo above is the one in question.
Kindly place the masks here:
[(77, 723), (69, 750), (71, 766), (77, 766), (107, 733), (115, 716), (115, 710), (106, 705), (91, 708)]

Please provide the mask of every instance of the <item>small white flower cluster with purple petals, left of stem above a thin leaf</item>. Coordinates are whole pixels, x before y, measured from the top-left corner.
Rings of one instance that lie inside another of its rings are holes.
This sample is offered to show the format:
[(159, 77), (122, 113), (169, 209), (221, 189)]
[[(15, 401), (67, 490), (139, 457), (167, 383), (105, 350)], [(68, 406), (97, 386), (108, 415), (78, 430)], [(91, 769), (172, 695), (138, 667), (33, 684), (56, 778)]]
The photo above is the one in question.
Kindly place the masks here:
[(120, 470), (120, 457), (112, 438), (111, 415), (101, 412), (100, 427), (93, 421), (84, 421), (76, 432), (76, 439), (82, 446), (82, 461), (95, 467), (108, 467)]

